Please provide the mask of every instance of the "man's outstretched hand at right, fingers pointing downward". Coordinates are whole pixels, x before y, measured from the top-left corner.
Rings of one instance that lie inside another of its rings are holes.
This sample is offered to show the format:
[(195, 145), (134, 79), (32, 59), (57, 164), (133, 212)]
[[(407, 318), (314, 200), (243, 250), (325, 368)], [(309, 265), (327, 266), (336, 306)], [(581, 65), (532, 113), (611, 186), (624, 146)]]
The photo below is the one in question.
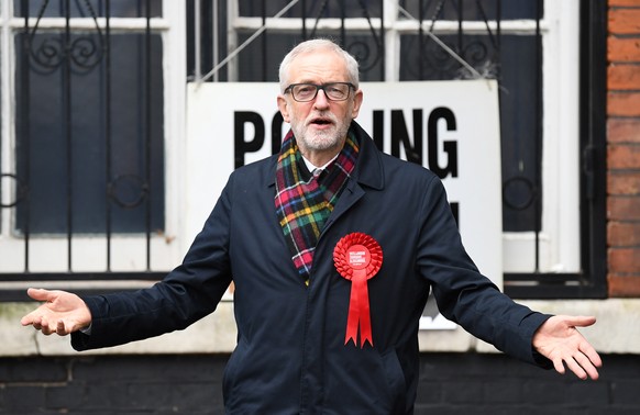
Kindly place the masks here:
[(597, 368), (603, 366), (599, 355), (576, 327), (587, 327), (595, 317), (555, 315), (544, 322), (533, 335), (536, 350), (553, 362), (564, 374), (565, 364), (580, 379), (598, 379)]

